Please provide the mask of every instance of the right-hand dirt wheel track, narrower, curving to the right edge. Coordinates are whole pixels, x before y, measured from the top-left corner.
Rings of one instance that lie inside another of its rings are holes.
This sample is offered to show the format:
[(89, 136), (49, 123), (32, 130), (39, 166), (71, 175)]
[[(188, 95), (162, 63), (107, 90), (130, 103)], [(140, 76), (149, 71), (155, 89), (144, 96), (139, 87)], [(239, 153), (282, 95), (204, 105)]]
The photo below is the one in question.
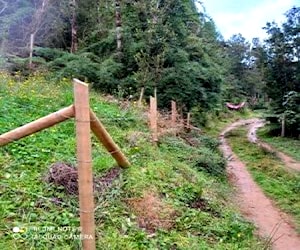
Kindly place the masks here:
[[(276, 156), (284, 163), (287, 168), (292, 170), (300, 171), (300, 162), (294, 160), (292, 157), (279, 152), (278, 150), (271, 147), (268, 143), (262, 142), (256, 136), (256, 130), (265, 125), (264, 121), (261, 119), (254, 119), (254, 122), (249, 124), (248, 140), (253, 143), (257, 143), (258, 146), (265, 149), (268, 152), (275, 153)], [(300, 249), (300, 247), (299, 247)]]

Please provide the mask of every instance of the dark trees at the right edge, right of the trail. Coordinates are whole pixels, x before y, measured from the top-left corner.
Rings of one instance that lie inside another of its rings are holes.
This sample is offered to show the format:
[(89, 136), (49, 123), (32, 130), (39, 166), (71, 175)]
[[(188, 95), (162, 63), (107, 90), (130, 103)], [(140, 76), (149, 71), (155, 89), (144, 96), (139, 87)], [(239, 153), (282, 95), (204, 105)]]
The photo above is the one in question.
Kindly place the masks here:
[[(286, 13), (286, 22), (279, 27), (268, 23), (266, 31), (267, 68), (266, 92), (271, 100), (271, 111), (277, 120), (285, 119), (287, 133), (300, 135), (300, 8)], [(273, 119), (274, 124), (276, 119)]]

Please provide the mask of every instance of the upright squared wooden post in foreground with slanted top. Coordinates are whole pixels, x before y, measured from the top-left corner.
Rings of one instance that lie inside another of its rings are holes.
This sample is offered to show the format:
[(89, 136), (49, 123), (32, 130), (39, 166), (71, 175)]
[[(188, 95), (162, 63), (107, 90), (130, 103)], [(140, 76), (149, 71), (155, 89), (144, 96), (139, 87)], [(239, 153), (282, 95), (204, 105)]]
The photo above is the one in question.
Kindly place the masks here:
[(78, 161), (78, 190), (81, 237), (84, 250), (95, 250), (95, 222), (92, 153), (90, 137), (90, 107), (88, 85), (74, 82), (76, 140)]

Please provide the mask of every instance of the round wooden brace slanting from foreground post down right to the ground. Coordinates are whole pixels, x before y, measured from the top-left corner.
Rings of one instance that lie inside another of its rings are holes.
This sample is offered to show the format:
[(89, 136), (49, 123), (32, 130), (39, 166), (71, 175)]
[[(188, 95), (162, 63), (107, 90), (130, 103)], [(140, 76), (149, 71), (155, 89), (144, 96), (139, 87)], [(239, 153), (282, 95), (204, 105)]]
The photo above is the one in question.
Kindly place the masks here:
[(130, 163), (125, 157), (125, 155), (121, 152), (120, 148), (113, 141), (109, 133), (106, 131), (103, 124), (98, 120), (96, 114), (90, 110), (91, 117), (91, 129), (99, 139), (99, 141), (103, 144), (103, 146), (107, 149), (108, 152), (111, 153), (111, 156), (115, 158), (120, 167), (126, 168), (129, 167)]

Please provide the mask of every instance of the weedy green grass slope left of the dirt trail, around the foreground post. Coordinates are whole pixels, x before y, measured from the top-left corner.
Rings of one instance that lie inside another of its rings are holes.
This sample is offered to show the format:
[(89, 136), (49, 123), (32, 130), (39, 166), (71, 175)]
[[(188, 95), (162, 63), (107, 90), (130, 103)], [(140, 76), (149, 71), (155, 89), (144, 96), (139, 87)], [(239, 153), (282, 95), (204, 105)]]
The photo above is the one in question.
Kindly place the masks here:
[[(68, 79), (0, 73), (0, 134), (72, 99)], [(132, 163), (107, 192), (95, 195), (97, 249), (262, 249), (254, 226), (230, 203), (214, 141), (195, 135), (199, 146), (192, 147), (165, 137), (154, 147), (133, 104), (120, 108), (92, 91), (91, 106)], [(101, 176), (115, 163), (94, 137), (92, 144), (94, 175)], [(51, 164), (76, 165), (75, 148), (73, 120), (0, 148), (0, 247), (81, 249), (77, 197), (45, 181)], [(220, 172), (211, 171), (212, 164)], [(143, 213), (145, 204), (157, 209)]]

